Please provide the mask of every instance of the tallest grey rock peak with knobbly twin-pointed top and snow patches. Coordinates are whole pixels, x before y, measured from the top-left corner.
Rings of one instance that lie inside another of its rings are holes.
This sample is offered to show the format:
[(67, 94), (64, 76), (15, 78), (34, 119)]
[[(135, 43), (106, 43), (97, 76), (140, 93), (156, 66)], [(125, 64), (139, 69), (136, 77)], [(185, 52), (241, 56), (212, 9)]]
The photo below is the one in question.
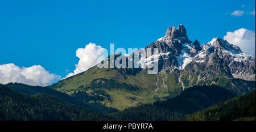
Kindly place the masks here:
[(158, 60), (159, 71), (170, 68), (179, 69), (182, 66), (180, 62), (182, 59), (194, 57), (201, 50), (199, 41), (192, 42), (188, 39), (183, 25), (179, 25), (177, 29), (174, 26), (168, 28), (166, 36), (152, 42), (145, 49), (147, 48), (158, 48), (158, 53), (163, 54)]

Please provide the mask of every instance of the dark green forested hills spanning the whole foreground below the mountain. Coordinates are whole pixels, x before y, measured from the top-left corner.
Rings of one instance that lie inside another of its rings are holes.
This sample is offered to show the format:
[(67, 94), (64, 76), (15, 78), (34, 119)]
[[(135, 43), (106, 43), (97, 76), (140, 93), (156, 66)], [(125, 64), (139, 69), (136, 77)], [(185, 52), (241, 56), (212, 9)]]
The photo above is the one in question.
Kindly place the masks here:
[[(111, 101), (105, 91), (72, 95), (47, 87), (0, 84), (0, 120), (235, 120), (255, 116), (255, 90), (237, 96), (218, 86), (193, 86), (180, 95), (123, 111), (88, 101)], [(94, 110), (92, 105), (97, 108)], [(101, 108), (102, 107), (102, 108)], [(87, 109), (89, 108), (89, 109)], [(102, 114), (98, 111), (104, 111)], [(109, 111), (108, 111), (109, 110)]]

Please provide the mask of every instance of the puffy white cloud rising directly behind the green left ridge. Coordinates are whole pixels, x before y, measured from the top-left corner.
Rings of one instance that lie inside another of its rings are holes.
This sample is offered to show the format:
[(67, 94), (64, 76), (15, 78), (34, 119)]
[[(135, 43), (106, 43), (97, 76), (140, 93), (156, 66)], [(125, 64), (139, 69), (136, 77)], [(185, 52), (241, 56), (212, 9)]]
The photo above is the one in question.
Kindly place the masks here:
[(85, 48), (79, 48), (76, 50), (76, 56), (80, 59), (79, 63), (76, 64), (76, 70), (73, 73), (69, 73), (65, 78), (69, 76), (79, 74), (83, 71), (88, 70), (90, 67), (97, 65), (104, 59), (103, 55), (98, 55), (97, 50), (103, 49), (100, 45), (89, 43)]

